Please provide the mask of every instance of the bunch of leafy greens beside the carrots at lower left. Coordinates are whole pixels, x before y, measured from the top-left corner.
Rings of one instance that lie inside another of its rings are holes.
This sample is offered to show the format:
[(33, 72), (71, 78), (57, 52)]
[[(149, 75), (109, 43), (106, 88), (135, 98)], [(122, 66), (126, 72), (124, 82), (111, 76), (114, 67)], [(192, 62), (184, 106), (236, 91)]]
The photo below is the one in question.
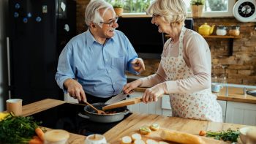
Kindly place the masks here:
[(35, 135), (34, 129), (40, 122), (33, 121), (32, 117), (9, 115), (0, 121), (0, 142), (4, 143), (29, 143)]

